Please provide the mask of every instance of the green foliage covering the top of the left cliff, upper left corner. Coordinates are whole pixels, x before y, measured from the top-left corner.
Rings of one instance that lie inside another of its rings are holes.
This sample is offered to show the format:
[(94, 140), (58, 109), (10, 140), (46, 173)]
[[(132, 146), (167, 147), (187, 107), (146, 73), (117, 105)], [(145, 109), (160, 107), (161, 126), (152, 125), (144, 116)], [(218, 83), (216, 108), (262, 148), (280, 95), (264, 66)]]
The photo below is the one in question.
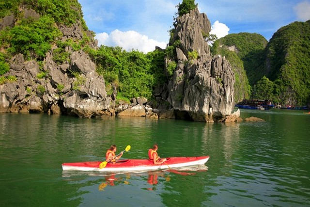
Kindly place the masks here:
[[(25, 17), (25, 11), (20, 12), (21, 7), (34, 10), (39, 17)], [(83, 29), (88, 30), (78, 0), (1, 1), (0, 17), (11, 14), (16, 18), (15, 26), (0, 31), (0, 49), (8, 54), (7, 59), (10, 55), (22, 53), (28, 59), (43, 60), (51, 45), (62, 36), (58, 29), (60, 25), (71, 26), (80, 21)], [(84, 38), (80, 42), (87, 40)], [(61, 52), (56, 58), (58, 62), (63, 59)]]

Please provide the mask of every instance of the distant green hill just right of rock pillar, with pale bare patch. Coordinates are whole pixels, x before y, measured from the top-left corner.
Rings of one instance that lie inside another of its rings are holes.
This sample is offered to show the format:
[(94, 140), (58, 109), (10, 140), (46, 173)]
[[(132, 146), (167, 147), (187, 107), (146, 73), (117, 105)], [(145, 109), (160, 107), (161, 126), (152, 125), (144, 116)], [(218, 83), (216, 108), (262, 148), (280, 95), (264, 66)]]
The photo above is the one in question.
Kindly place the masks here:
[(263, 77), (263, 73), (258, 70), (263, 62), (259, 54), (266, 44), (267, 40), (262, 35), (245, 32), (226, 35), (213, 43), (212, 54), (225, 56), (232, 64), (236, 101), (250, 98), (251, 86)]

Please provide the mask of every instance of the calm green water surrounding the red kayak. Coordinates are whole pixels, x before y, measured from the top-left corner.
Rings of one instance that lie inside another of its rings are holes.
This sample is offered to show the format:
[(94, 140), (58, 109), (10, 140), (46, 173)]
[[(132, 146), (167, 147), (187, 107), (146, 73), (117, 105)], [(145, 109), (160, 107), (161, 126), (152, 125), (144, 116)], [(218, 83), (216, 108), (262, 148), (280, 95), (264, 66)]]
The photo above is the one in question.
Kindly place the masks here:
[[(229, 124), (0, 114), (0, 206), (310, 206), (310, 115), (302, 112), (244, 110), (266, 121)], [(155, 142), (161, 157), (209, 155), (207, 170), (62, 172), (63, 162), (102, 159), (113, 143), (131, 145), (124, 158), (146, 158)]]

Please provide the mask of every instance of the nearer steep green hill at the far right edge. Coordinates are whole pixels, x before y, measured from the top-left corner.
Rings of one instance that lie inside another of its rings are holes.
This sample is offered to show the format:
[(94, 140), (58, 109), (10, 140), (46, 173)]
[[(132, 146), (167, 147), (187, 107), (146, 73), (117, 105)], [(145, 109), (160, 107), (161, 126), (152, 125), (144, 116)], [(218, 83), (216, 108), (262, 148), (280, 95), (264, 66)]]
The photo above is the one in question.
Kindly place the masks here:
[(310, 103), (310, 20), (280, 28), (270, 39), (265, 57), (267, 77), (274, 81), (281, 104)]

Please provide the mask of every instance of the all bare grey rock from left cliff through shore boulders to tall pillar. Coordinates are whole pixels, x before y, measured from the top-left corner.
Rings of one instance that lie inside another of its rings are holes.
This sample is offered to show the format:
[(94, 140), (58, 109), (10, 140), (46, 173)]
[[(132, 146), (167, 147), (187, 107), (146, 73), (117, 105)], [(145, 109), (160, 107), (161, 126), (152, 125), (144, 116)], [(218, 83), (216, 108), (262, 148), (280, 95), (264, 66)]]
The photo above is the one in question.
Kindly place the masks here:
[[(40, 18), (32, 9), (20, 9), (24, 16), (18, 18)], [(16, 18), (14, 15), (2, 18), (0, 29), (13, 28)], [(92, 32), (83, 29), (79, 20), (71, 26), (57, 25), (57, 29), (62, 34), (58, 40), (63, 43), (89, 39), (87, 46), (97, 47)], [(131, 103), (116, 101), (117, 88), (112, 86), (111, 94), (107, 93), (104, 78), (97, 74), (96, 64), (83, 48), (76, 49), (74, 45), (60, 48), (62, 44), (53, 44), (43, 61), (25, 54), (16, 54), (7, 61), (10, 69), (3, 77), (16, 80), (0, 84), (0, 112), (235, 121), (235, 116), (230, 116), (234, 106), (233, 70), (225, 58), (211, 56), (204, 40), (210, 30), (209, 19), (198, 9), (177, 18), (170, 41), (174, 55), (166, 57), (166, 66), (174, 62), (176, 68), (168, 82), (155, 89), (156, 104), (140, 97), (132, 98)], [(55, 57), (60, 50), (68, 57), (57, 61)]]

